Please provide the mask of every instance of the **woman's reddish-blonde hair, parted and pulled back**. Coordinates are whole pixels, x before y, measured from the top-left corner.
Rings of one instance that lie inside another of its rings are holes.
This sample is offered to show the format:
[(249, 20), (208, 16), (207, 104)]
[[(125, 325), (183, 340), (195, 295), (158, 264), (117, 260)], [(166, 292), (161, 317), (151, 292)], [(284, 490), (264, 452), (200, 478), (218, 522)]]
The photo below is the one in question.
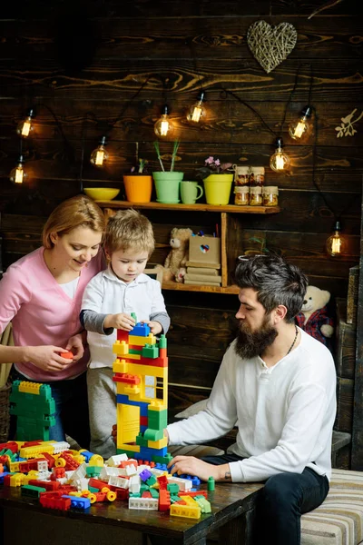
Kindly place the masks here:
[(97, 233), (104, 232), (103, 211), (98, 204), (85, 195), (71, 197), (54, 208), (43, 228), (44, 248), (49, 250), (54, 247), (51, 240), (52, 233), (62, 236), (77, 227), (88, 227)]

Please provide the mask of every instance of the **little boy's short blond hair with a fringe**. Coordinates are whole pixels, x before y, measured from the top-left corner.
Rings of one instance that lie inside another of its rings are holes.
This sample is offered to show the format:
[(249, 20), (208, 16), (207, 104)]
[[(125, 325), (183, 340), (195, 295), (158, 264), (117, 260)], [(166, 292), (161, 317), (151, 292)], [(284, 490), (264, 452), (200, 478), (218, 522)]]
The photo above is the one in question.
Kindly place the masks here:
[(155, 247), (152, 223), (133, 210), (119, 210), (108, 220), (104, 235), (104, 249), (111, 257), (118, 250), (147, 252), (151, 256)]

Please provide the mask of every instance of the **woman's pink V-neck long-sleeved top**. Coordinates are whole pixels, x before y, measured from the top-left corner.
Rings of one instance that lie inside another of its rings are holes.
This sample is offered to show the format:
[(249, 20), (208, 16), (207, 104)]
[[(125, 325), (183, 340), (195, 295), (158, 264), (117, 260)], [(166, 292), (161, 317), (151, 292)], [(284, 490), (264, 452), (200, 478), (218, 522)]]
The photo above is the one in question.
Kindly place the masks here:
[[(83, 291), (97, 272), (104, 269), (103, 251), (88, 263), (80, 275), (71, 299), (55, 281), (44, 262), (44, 247), (25, 255), (8, 267), (0, 282), (0, 332), (13, 322), (15, 346), (54, 344), (65, 348), (70, 337), (83, 330), (79, 321)], [(88, 349), (83, 358), (62, 372), (45, 372), (32, 362), (16, 363), (16, 369), (35, 381), (60, 381), (85, 371)]]

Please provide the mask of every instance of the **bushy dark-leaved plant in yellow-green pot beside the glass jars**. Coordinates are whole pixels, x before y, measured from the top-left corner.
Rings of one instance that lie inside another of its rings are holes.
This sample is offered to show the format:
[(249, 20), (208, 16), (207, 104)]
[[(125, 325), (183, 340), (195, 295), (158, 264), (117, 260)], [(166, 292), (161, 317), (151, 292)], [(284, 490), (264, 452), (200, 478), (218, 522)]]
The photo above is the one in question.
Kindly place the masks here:
[(228, 204), (230, 202), (233, 173), (228, 172), (232, 163), (221, 163), (212, 155), (204, 166), (198, 169), (197, 177), (204, 183), (205, 199), (208, 204)]

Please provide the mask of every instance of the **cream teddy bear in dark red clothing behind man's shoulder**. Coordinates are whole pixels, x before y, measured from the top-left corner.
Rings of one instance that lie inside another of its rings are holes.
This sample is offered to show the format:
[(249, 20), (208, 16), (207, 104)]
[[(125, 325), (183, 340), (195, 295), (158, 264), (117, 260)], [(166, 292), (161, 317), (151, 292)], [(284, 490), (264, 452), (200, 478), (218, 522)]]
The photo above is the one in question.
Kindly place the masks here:
[(295, 317), (295, 321), (311, 337), (315, 337), (330, 348), (329, 339), (333, 335), (334, 328), (327, 308), (329, 300), (329, 292), (320, 290), (316, 286), (308, 286), (301, 312)]

